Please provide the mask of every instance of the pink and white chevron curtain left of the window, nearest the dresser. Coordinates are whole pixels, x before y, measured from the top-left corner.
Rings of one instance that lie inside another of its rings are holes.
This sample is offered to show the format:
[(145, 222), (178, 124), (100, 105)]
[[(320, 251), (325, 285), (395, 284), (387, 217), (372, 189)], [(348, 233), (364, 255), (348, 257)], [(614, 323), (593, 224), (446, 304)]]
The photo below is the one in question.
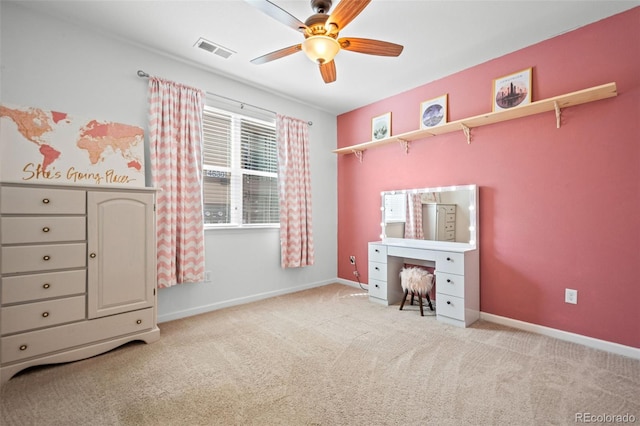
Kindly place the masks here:
[(149, 78), (149, 147), (158, 231), (158, 287), (204, 281), (204, 93)]

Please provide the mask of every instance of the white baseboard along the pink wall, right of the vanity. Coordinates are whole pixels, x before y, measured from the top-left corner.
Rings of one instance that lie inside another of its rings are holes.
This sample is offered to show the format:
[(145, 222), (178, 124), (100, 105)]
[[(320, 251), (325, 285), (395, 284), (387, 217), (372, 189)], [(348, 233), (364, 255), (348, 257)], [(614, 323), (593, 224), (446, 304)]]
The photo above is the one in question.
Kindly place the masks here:
[(499, 315), (488, 314), (485, 312), (480, 312), (480, 319), (494, 322), (496, 324), (506, 325), (508, 327), (517, 328), (519, 330), (525, 330), (532, 333), (542, 334), (544, 336), (554, 337), (556, 339), (564, 340), (567, 342), (577, 343), (593, 349), (599, 349), (617, 355), (640, 359), (640, 349), (631, 346), (607, 342), (606, 340), (594, 339), (593, 337), (583, 336), (581, 334), (569, 333), (568, 331), (557, 330), (555, 328), (531, 324), (507, 317), (501, 317)]

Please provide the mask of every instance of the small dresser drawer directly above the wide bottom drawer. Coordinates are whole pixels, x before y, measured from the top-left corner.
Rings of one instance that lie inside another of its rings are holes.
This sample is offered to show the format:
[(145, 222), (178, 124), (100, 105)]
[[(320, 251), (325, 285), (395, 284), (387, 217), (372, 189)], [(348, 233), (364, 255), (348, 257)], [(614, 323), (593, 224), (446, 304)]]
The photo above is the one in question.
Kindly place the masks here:
[(0, 313), (0, 332), (5, 335), (80, 321), (86, 317), (85, 300), (84, 296), (74, 296), (4, 307)]

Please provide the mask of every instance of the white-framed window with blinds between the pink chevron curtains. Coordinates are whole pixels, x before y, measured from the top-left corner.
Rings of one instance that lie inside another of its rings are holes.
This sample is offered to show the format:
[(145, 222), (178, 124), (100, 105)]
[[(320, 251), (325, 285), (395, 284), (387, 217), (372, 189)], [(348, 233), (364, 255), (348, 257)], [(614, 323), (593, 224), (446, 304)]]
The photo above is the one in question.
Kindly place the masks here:
[(205, 106), (203, 133), (204, 223), (279, 224), (275, 120)]

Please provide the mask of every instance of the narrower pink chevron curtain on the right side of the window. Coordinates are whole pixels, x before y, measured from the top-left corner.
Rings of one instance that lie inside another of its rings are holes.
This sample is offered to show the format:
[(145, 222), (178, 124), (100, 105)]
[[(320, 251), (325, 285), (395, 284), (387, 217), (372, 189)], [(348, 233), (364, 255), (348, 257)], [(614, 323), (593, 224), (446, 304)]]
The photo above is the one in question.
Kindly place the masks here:
[(309, 124), (277, 115), (280, 263), (283, 268), (313, 265)]

